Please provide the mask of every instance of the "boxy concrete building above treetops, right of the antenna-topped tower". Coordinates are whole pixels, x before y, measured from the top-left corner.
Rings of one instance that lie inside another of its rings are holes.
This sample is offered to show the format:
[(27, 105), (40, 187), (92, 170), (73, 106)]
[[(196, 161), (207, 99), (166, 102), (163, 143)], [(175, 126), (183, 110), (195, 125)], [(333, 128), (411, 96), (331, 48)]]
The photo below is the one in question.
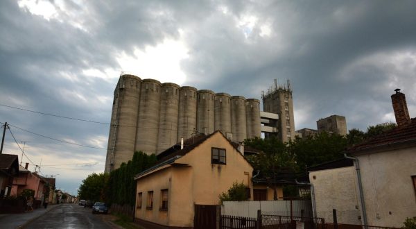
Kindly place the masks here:
[(326, 131), (328, 133), (337, 133), (338, 135), (347, 135), (347, 121), (344, 116), (331, 115), (324, 119), (316, 121), (318, 131)]

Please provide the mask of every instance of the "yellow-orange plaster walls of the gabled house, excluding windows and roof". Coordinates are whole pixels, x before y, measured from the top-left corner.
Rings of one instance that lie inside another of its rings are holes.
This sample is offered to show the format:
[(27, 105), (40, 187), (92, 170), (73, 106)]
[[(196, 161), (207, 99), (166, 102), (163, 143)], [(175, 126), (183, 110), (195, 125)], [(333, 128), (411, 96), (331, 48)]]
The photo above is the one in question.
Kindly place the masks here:
[[(211, 164), (211, 147), (226, 149), (226, 164)], [(218, 205), (220, 194), (234, 182), (251, 188), (252, 167), (221, 133), (215, 133), (175, 164), (183, 165), (166, 165), (137, 179), (137, 194), (142, 192), (143, 199), (136, 218), (165, 226), (192, 227), (194, 204)], [(159, 210), (161, 189), (168, 189), (167, 211)], [(148, 191), (153, 191), (151, 210), (146, 210)]]

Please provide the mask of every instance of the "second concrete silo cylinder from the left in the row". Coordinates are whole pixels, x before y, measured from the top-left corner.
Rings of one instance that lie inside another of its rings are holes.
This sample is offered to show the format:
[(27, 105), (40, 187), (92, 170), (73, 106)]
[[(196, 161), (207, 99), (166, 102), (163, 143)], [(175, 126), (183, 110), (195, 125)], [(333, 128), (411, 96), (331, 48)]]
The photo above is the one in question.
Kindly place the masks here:
[(156, 153), (159, 130), (161, 83), (153, 79), (141, 82), (140, 109), (137, 119), (136, 150)]

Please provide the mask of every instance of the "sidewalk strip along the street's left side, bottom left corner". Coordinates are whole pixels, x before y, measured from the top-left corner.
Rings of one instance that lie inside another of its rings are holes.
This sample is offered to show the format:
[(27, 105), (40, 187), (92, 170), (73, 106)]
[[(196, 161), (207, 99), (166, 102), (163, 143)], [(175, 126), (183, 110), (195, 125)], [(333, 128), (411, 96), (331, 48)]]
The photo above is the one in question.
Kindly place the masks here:
[(60, 204), (48, 205), (48, 208), (46, 209), (42, 206), (31, 212), (24, 212), (20, 214), (0, 214), (1, 228), (21, 228), (26, 225), (26, 223), (41, 217), (46, 212), (49, 212), (58, 206), (60, 206)]

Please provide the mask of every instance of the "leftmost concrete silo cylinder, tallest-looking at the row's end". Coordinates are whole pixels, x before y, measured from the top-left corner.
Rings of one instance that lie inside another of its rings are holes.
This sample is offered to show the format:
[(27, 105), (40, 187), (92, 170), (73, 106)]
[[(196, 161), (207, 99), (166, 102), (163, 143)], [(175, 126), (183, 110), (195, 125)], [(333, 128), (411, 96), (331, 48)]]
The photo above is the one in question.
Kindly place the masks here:
[(141, 79), (130, 74), (119, 78), (114, 90), (110, 135), (105, 171), (120, 167), (132, 159), (135, 151), (137, 112), (139, 110)]

